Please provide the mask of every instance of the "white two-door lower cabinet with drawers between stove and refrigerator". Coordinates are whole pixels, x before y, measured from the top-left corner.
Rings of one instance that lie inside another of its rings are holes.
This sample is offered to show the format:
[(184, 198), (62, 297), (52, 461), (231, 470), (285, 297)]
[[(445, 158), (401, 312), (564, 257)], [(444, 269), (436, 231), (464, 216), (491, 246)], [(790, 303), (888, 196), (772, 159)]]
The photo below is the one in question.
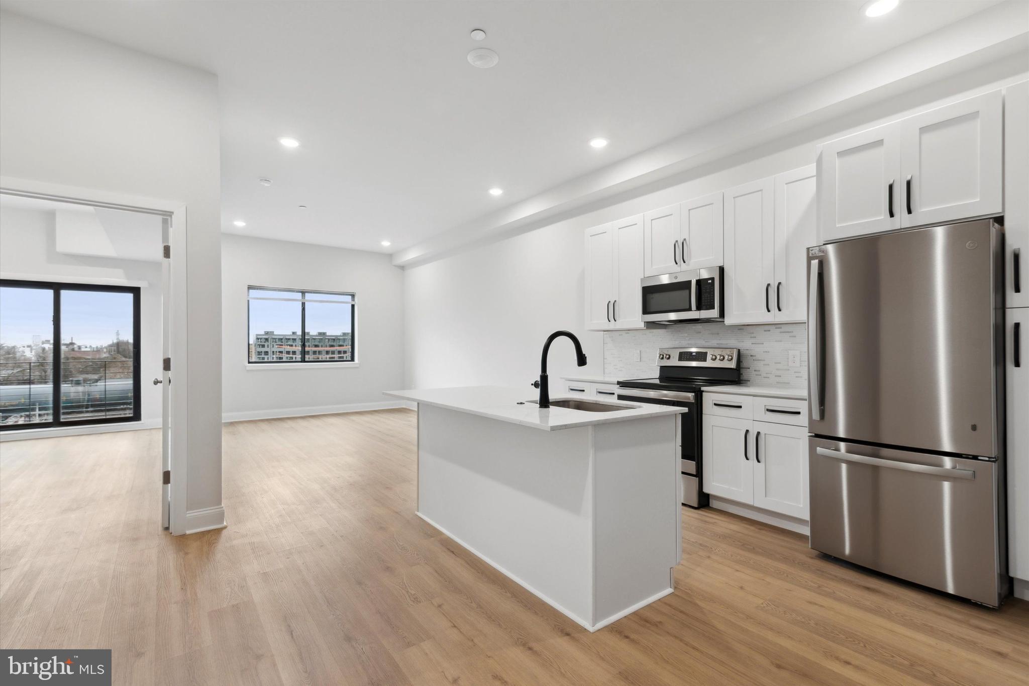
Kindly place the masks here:
[[(752, 419), (755, 412), (768, 414), (761, 408), (769, 403), (761, 398), (750, 402), (750, 397), (714, 393), (704, 398), (704, 491), (807, 520), (808, 428)], [(774, 406), (807, 416), (803, 400), (776, 398)]]

